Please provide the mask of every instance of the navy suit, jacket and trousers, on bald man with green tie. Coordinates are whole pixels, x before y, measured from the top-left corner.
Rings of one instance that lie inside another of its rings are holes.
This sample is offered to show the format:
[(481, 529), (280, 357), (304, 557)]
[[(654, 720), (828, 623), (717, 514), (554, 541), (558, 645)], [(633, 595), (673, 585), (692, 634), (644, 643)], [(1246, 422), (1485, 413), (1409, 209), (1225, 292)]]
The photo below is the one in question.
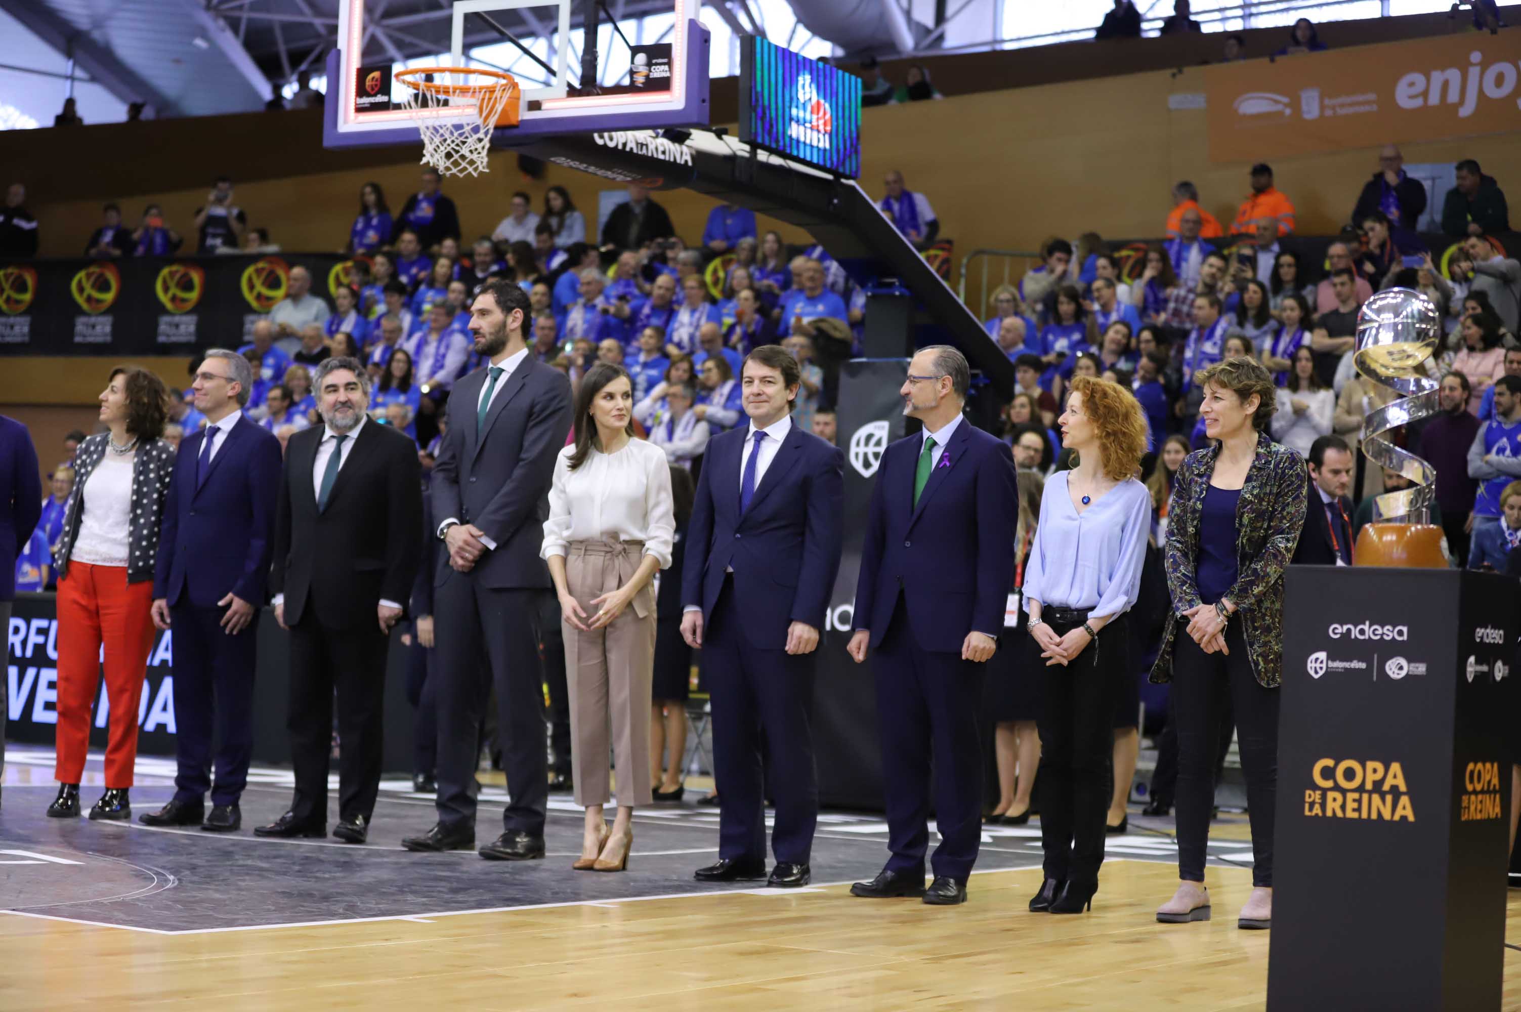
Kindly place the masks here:
[[(923, 434), (882, 453), (861, 546), (855, 629), (872, 632), (887, 793), (888, 870), (923, 875), (934, 767), (934, 874), (966, 884), (981, 842), (983, 665), (967, 633), (998, 636), (1015, 577), (1019, 488), (1008, 446), (963, 418), (914, 507)], [(949, 457), (949, 463), (946, 461)], [(931, 758), (934, 759), (931, 764)]]

